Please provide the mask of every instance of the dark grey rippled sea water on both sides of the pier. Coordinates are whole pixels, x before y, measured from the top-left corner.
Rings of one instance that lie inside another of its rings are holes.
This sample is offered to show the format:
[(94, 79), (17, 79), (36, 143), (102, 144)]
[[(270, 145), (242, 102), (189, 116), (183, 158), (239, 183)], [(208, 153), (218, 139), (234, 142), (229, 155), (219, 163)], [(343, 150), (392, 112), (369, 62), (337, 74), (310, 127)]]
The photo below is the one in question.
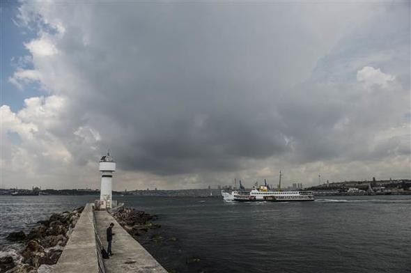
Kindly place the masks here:
[[(0, 243), (95, 196), (0, 196)], [(160, 216), (175, 244), (147, 245), (177, 272), (411, 272), (411, 196), (330, 196), (304, 203), (116, 196)], [(115, 245), (114, 245), (115, 249)], [(198, 263), (185, 263), (187, 257)]]

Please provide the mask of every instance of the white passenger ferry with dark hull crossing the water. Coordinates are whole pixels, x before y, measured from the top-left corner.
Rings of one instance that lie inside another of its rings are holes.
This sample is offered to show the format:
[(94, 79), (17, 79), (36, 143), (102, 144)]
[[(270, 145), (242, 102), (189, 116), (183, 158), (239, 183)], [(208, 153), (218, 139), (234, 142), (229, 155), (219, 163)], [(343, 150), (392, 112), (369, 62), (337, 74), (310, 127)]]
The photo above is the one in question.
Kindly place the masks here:
[(251, 192), (231, 193), (222, 192), (224, 201), (239, 201), (239, 202), (253, 202), (253, 201), (270, 201), (270, 202), (289, 202), (289, 201), (314, 201), (314, 195), (311, 191), (269, 191), (267, 187), (260, 186), (253, 187)]

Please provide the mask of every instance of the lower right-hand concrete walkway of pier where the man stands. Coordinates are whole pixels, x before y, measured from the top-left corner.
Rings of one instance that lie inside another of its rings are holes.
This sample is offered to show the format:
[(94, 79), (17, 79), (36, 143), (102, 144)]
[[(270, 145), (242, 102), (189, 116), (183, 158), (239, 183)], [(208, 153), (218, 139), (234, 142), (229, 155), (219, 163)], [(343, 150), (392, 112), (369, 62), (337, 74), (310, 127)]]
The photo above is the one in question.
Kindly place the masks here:
[[(111, 222), (114, 223), (113, 242), (111, 250), (114, 255), (109, 259), (104, 259), (106, 273), (118, 272), (161, 272), (166, 270), (160, 263), (141, 247), (141, 244), (122, 228), (116, 219), (106, 211), (95, 211), (95, 221), (104, 249), (107, 249), (106, 229)], [(92, 271), (83, 271), (92, 272)], [(94, 271), (95, 272), (95, 271)], [(78, 272), (77, 272), (78, 273)]]

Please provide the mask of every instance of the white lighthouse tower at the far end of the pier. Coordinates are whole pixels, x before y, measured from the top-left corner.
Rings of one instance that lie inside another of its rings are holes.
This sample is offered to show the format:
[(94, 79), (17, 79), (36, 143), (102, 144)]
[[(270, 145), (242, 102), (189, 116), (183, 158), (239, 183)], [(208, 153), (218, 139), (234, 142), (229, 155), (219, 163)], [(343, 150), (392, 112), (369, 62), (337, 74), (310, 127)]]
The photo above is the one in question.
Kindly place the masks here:
[(100, 187), (100, 203), (104, 203), (103, 207), (112, 208), (113, 198), (111, 191), (113, 189), (111, 180), (113, 179), (113, 172), (116, 171), (116, 162), (110, 155), (110, 150), (107, 155), (104, 155), (100, 159), (100, 171), (101, 171), (101, 187)]

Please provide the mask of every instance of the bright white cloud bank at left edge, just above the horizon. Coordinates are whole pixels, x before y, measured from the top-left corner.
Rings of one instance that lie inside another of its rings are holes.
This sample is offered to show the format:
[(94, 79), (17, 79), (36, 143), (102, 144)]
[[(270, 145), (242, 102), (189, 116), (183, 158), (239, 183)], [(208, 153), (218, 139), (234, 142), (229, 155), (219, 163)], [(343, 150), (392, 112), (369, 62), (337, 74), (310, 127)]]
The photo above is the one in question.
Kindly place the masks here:
[[(72, 170), (72, 155), (63, 139), (54, 133), (63, 120), (63, 106), (63, 98), (52, 95), (26, 99), (24, 108), (17, 113), (8, 105), (0, 107), (3, 186), (14, 187), (17, 181), (19, 187), (63, 185), (65, 181), (59, 181), (59, 173)], [(20, 143), (13, 143), (10, 133), (17, 134)]]

